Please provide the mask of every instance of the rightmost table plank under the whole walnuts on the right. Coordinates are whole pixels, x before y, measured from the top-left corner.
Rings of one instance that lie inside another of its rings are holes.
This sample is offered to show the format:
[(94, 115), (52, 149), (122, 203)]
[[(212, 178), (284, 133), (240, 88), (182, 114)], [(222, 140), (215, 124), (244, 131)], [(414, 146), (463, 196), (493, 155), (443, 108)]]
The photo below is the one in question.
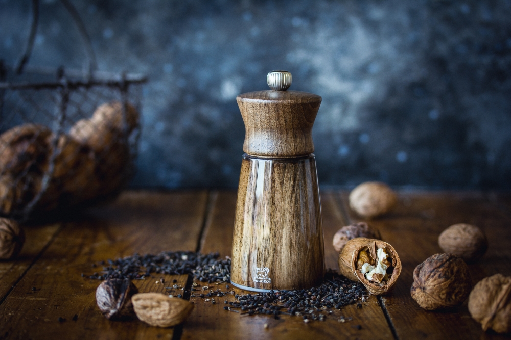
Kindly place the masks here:
[[(340, 195), (343, 208), (351, 221), (360, 221), (348, 207), (346, 192)], [(480, 193), (456, 192), (407, 192), (399, 195), (397, 207), (387, 216), (369, 224), (380, 229), (384, 241), (399, 253), (403, 270), (395, 289), (381, 298), (394, 331), (399, 339), (468, 339), (501, 338), (483, 333), (470, 317), (465, 302), (453, 310), (426, 311), (410, 296), (415, 267), (427, 257), (443, 252), (437, 239), (440, 232), (454, 223), (479, 226), (489, 239), (486, 255), (470, 265), (475, 284), (483, 277), (496, 273), (511, 274), (511, 228), (509, 217)]]

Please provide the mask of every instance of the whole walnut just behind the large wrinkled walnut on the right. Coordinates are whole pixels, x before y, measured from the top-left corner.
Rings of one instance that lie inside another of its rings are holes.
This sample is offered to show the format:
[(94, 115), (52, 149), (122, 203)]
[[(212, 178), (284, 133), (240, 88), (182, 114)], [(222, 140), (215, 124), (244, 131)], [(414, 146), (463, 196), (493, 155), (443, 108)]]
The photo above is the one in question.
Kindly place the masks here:
[(453, 224), (438, 237), (438, 245), (447, 253), (473, 262), (480, 259), (488, 249), (488, 240), (478, 227), (465, 223)]

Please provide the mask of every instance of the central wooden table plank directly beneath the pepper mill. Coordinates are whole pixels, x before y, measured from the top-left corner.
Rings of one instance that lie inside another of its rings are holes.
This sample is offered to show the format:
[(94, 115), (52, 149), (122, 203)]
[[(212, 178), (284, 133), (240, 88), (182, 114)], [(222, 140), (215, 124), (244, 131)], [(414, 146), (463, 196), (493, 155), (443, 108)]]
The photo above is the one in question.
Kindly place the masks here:
[[(325, 251), (327, 267), (337, 268), (337, 255), (331, 245), (335, 231), (343, 225), (342, 215), (338, 211), (335, 195), (322, 194), (323, 228), (326, 235)], [(203, 234), (203, 253), (219, 251), (222, 256), (229, 255), (233, 237), (236, 193), (221, 192), (212, 210), (212, 219)], [(197, 282), (201, 285), (203, 283)], [(229, 285), (230, 286), (230, 285)], [(226, 284), (213, 285), (213, 290), (220, 287), (223, 291)], [(248, 292), (234, 289), (235, 294)], [(196, 305), (188, 322), (184, 325), (182, 339), (323, 339), (323, 338), (370, 338), (391, 339), (392, 334), (378, 305), (376, 298), (370, 298), (363, 303), (361, 309), (355, 305), (347, 306), (336, 311), (327, 321), (315, 321), (305, 324), (299, 317), (282, 315), (280, 320), (262, 315), (240, 315), (223, 309), (224, 300), (234, 301), (234, 296), (216, 298), (217, 304), (205, 302), (204, 299), (191, 298)], [(353, 321), (339, 323), (339, 316), (353, 318)], [(268, 324), (268, 328), (264, 328)], [(361, 325), (362, 329), (355, 328)]]

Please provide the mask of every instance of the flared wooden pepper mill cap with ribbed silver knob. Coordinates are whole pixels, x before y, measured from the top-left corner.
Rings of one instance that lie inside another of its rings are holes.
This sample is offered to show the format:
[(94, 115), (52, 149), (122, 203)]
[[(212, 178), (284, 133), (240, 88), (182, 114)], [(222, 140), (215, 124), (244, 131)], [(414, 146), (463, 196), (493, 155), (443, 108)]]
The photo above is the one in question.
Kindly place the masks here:
[(266, 78), (272, 90), (236, 97), (245, 122), (243, 151), (251, 156), (292, 158), (314, 152), (312, 125), (321, 97), (307, 92), (286, 91), (291, 73), (277, 70)]

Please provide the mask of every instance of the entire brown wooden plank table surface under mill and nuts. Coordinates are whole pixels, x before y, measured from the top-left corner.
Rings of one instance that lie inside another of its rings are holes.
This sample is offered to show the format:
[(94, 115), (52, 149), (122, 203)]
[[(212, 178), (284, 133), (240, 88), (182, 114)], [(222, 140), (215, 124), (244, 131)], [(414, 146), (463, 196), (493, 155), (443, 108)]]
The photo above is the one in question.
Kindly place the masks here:
[[(337, 269), (334, 233), (360, 220), (350, 211), (347, 194), (321, 193), (327, 268)], [(217, 304), (192, 298), (196, 308), (191, 317), (168, 329), (136, 320), (111, 322), (101, 315), (95, 299), (100, 281), (81, 276), (100, 270), (92, 264), (135, 252), (199, 250), (230, 255), (235, 204), (235, 192), (129, 191), (71, 221), (26, 227), (21, 254), (15, 261), (0, 262), (0, 339), (509, 338), (482, 332), (467, 303), (454, 310), (425, 311), (409, 293), (413, 269), (442, 252), (438, 234), (454, 223), (475, 224), (489, 239), (487, 253), (470, 266), (474, 284), (496, 273), (511, 275), (511, 194), (502, 193), (400, 192), (390, 214), (369, 222), (402, 260), (395, 289), (384, 297), (371, 296), (360, 309), (343, 307), (325, 322), (239, 315), (223, 309), (224, 298)], [(177, 279), (188, 289), (193, 282), (186, 275), (154, 275), (134, 283), (141, 292), (164, 292), (164, 285), (155, 283), (161, 277), (167, 282)], [(225, 284), (219, 287), (225, 290)], [(352, 320), (339, 323), (340, 316)], [(59, 322), (59, 317), (65, 321)]]

